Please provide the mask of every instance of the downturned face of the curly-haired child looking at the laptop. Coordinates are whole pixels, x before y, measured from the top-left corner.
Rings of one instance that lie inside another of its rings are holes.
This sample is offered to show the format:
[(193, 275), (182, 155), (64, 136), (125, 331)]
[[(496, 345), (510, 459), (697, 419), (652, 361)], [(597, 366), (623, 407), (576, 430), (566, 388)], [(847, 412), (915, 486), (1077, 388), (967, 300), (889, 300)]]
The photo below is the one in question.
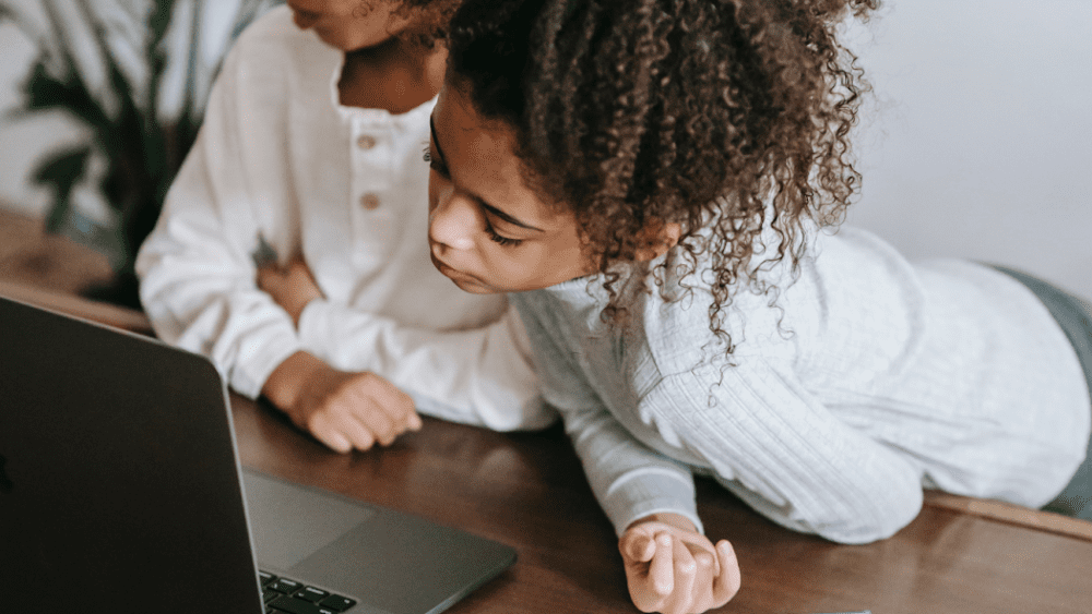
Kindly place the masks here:
[(514, 135), (484, 123), (455, 87), (440, 92), (429, 145), (432, 264), (475, 293), (546, 288), (593, 272), (568, 210), (523, 181)]

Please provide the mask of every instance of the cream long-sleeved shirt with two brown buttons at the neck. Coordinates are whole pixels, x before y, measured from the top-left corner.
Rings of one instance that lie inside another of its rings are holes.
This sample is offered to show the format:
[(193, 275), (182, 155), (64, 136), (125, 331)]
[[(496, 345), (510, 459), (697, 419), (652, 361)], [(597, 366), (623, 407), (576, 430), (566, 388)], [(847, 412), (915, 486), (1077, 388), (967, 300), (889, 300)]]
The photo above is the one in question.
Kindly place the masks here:
[[(156, 334), (209, 356), (248, 397), (307, 350), (385, 377), (425, 413), (502, 430), (551, 422), (514, 310), (429, 262), (435, 101), (403, 115), (342, 106), (343, 62), (285, 7), (241, 35), (136, 263)], [(301, 254), (325, 297), (298, 330), (257, 288), (259, 236), (282, 261)]]

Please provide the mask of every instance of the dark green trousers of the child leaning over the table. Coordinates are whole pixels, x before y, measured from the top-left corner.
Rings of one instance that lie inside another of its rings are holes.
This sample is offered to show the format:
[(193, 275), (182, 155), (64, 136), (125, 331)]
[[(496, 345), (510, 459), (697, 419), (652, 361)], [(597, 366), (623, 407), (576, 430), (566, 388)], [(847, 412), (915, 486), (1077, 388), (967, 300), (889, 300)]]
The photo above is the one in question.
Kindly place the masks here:
[[(994, 268), (1012, 276), (1032, 292), (1035, 292), (1035, 296), (1043, 301), (1043, 304), (1058, 321), (1061, 329), (1073, 345), (1077, 358), (1084, 370), (1089, 390), (1092, 392), (1092, 303), (1025, 273), (1002, 266), (994, 266)], [(1090, 411), (1092, 411), (1092, 401), (1090, 401)], [(1077, 473), (1073, 474), (1069, 484), (1043, 509), (1092, 520), (1092, 441), (1089, 442), (1084, 462), (1077, 469)]]

